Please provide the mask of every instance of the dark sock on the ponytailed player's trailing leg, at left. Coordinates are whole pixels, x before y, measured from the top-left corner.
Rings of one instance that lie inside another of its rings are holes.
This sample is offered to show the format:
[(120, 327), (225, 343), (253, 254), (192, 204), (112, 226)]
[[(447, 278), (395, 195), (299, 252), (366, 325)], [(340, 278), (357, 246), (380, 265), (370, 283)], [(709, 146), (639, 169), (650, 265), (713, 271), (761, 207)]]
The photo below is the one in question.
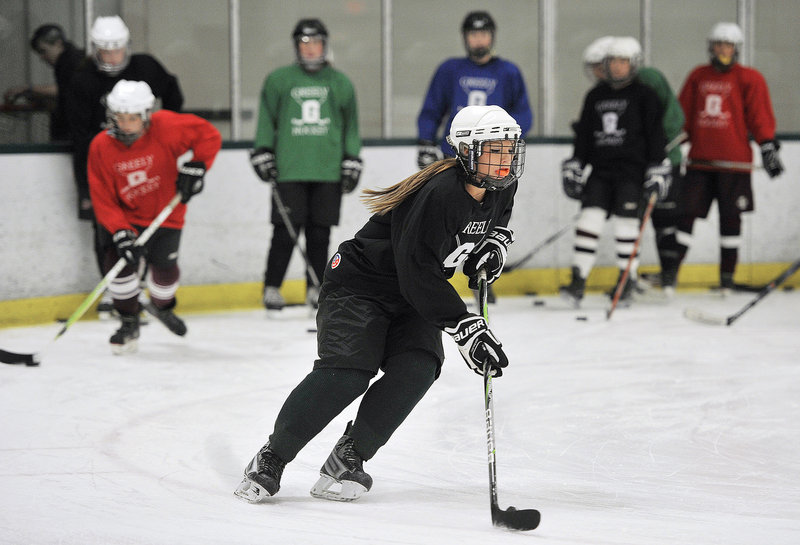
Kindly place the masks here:
[(270, 448), (284, 462), (297, 453), (331, 420), (364, 393), (372, 373), (361, 369), (318, 368), (292, 390), (283, 403)]

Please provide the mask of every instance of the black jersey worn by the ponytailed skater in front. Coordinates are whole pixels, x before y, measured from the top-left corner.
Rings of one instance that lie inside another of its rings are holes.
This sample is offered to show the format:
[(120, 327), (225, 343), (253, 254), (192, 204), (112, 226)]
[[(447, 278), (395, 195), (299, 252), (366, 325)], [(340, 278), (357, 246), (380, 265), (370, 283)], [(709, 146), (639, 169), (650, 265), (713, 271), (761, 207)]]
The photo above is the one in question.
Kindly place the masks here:
[(448, 282), (495, 226), (507, 226), (517, 182), (487, 191), (483, 202), (465, 189), (460, 166), (440, 172), (385, 215), (373, 215), (343, 242), (325, 278), (365, 293), (402, 296), (439, 328), (467, 313)]

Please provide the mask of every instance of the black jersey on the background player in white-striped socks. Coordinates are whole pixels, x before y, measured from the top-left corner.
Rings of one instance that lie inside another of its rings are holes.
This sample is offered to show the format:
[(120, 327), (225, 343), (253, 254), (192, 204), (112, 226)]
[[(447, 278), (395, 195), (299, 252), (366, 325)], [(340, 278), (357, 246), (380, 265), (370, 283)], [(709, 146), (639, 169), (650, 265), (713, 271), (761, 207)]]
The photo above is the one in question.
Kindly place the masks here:
[(575, 157), (594, 168), (620, 161), (646, 167), (664, 157), (663, 110), (656, 92), (633, 80), (622, 89), (601, 81), (587, 94), (575, 134)]

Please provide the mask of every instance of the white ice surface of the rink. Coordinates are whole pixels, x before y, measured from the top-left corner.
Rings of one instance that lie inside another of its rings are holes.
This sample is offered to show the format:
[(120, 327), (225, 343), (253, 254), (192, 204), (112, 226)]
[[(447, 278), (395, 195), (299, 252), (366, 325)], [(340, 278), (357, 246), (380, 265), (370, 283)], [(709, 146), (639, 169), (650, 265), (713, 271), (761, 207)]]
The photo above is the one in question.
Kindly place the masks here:
[[(142, 328), (112, 356), (112, 322), (75, 324), (41, 367), (0, 365), (3, 544), (797, 544), (800, 543), (800, 293), (678, 294), (605, 320), (555, 297), (501, 298), (492, 327), (511, 364), (494, 381), (499, 499), (536, 508), (532, 532), (489, 516), (482, 382), (447, 361), (365, 469), (359, 501), (309, 496), (355, 415), (345, 411), (289, 464), (279, 494), (232, 494), (315, 338), (303, 309), (187, 315), (189, 334)], [(587, 321), (576, 321), (579, 315)], [(0, 330), (0, 347), (48, 346), (57, 325)]]

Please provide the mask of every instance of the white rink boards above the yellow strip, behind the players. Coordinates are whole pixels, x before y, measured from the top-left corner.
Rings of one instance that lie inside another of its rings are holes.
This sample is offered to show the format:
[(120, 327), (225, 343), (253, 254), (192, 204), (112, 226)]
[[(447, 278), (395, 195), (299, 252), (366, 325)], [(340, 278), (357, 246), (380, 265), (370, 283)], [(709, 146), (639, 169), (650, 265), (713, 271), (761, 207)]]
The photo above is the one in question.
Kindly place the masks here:
[[(567, 199), (560, 162), (571, 153), (565, 144), (530, 144), (511, 226), (516, 242), (509, 259), (525, 255), (537, 243), (572, 221), (578, 203)], [(800, 142), (785, 142), (786, 172), (769, 180), (753, 174), (756, 212), (746, 214), (741, 263), (788, 262), (800, 253)], [(361, 188), (385, 187), (413, 173), (413, 146), (369, 146), (362, 151)], [(756, 161), (760, 162), (758, 153)], [(91, 250), (92, 229), (77, 219), (70, 157), (63, 153), (0, 154), (0, 301), (86, 293), (100, 280)], [(184, 286), (260, 282), (271, 232), (269, 188), (252, 172), (245, 149), (222, 150), (206, 177), (205, 190), (189, 204), (180, 253)], [(356, 194), (345, 196), (341, 224), (331, 250), (350, 238), (368, 214)], [(612, 266), (611, 226), (606, 225), (598, 265)], [(695, 245), (687, 263), (717, 263), (717, 216), (695, 227)], [(532, 259), (527, 267), (569, 267), (572, 235), (567, 234)], [(648, 226), (642, 263), (657, 263)], [(304, 276), (296, 254), (287, 279)]]

